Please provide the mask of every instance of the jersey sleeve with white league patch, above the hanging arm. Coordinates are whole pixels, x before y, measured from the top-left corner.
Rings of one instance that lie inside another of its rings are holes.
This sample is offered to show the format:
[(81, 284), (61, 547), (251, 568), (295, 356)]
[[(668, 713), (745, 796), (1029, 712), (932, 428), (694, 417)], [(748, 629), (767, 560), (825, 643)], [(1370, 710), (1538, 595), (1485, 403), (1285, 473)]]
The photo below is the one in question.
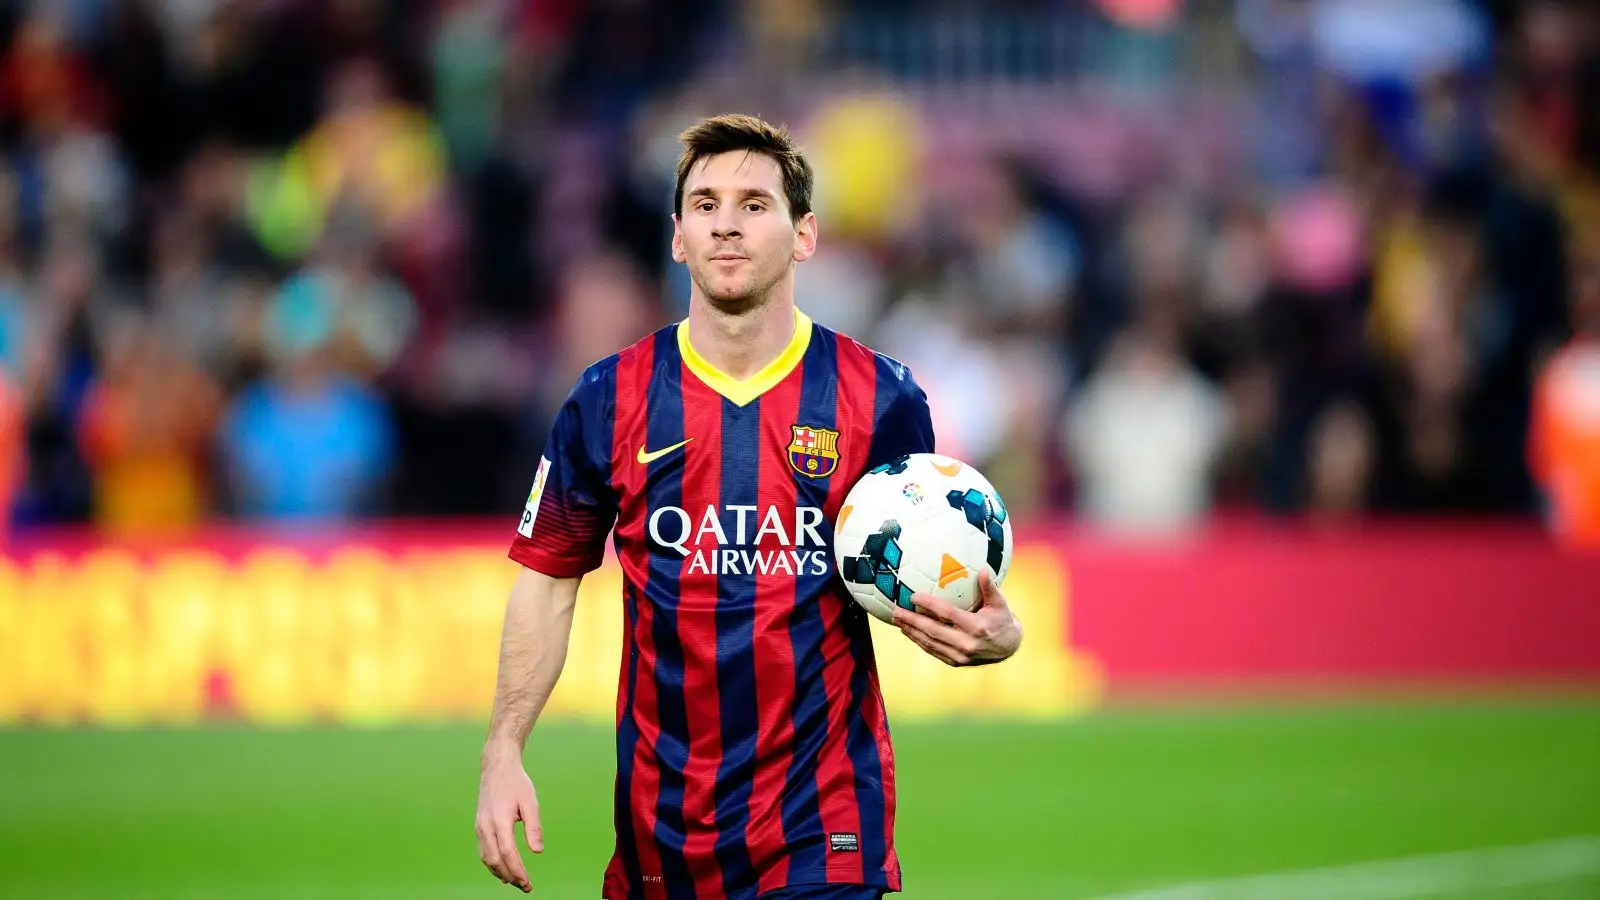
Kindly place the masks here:
[(507, 554), (552, 578), (598, 569), (616, 522), (610, 413), (594, 388), (581, 383), (562, 404)]

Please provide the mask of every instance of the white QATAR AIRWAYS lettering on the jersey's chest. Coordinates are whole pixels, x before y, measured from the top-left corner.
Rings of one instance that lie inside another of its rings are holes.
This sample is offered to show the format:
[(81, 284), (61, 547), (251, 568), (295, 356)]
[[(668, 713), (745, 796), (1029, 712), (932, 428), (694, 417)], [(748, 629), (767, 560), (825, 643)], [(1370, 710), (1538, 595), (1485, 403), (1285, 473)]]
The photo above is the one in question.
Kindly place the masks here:
[(691, 514), (661, 506), (650, 514), (650, 540), (688, 559), (686, 573), (827, 575), (822, 511), (816, 506), (707, 506)]

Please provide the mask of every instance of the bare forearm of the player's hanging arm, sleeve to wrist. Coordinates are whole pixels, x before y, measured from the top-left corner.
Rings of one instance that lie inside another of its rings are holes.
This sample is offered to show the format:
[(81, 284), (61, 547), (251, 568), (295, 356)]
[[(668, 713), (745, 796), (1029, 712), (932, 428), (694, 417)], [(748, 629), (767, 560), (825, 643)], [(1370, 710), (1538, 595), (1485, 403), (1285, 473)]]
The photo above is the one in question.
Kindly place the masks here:
[(506, 753), (522, 756), (528, 732), (562, 676), (576, 601), (576, 578), (557, 580), (530, 570), (517, 577), (506, 602), (485, 762)]

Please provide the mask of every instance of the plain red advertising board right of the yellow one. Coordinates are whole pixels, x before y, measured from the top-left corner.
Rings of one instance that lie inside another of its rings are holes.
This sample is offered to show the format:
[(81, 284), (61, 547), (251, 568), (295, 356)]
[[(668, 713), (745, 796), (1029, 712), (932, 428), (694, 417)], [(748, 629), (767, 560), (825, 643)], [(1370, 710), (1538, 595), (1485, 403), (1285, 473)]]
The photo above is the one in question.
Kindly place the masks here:
[(1171, 546), (1058, 532), (1072, 641), (1114, 689), (1600, 682), (1600, 556), (1522, 525), (1224, 525)]

